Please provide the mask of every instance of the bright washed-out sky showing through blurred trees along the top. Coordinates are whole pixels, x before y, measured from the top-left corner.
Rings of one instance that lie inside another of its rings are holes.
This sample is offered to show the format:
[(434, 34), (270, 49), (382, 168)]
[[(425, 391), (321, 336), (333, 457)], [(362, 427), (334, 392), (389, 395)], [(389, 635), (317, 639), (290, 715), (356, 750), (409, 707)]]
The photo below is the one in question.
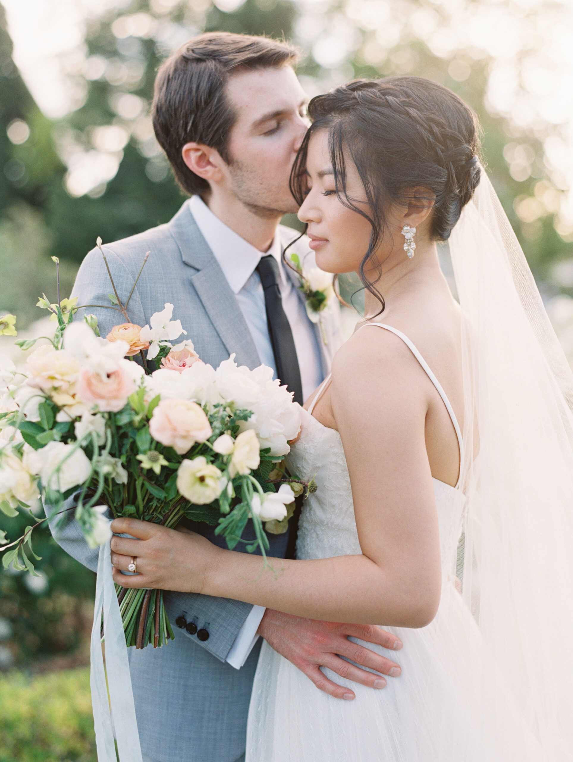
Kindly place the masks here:
[[(177, 0), (151, 2), (167, 10)], [(188, 2), (196, 6), (208, 0)], [(232, 10), (241, 0), (214, 2)], [(454, 56), (450, 74), (460, 80), (470, 74), (468, 62), (493, 56), (489, 109), (518, 128), (533, 130), (544, 142), (555, 187), (573, 187), (573, 0), (346, 0), (343, 12), (334, 9), (334, 0), (296, 2), (300, 10), (297, 41), (331, 72), (331, 81), (304, 82), (308, 89), (349, 77), (345, 60), (361, 43), (358, 29), (370, 35), (363, 56), (373, 63), (383, 60), (399, 40), (416, 38), (438, 56)], [(125, 7), (129, 0), (4, 0), (4, 5), (14, 61), (33, 97), (49, 117), (63, 116), (81, 102), (81, 80), (65, 78), (56, 56), (68, 51), (68, 70), (73, 72), (75, 60), (80, 70), (84, 16), (97, 15), (107, 7)], [(189, 34), (189, 30), (180, 32)], [(397, 62), (396, 68), (405, 73), (407, 60)], [(511, 174), (526, 180), (533, 159), (527, 156), (527, 146), (512, 145), (506, 155)], [(543, 203), (547, 210), (557, 211), (550, 208), (556, 203), (561, 209), (558, 230), (566, 240), (573, 240), (573, 194), (557, 201), (546, 195), (545, 201), (531, 200), (517, 213), (527, 221), (543, 211)]]

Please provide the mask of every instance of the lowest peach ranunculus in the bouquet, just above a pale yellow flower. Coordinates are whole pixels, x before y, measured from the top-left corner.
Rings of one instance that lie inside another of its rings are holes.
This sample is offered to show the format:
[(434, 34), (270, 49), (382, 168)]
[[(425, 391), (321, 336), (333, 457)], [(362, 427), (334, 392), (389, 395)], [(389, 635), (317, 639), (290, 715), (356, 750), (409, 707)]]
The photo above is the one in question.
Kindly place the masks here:
[(162, 399), (149, 421), (149, 433), (154, 440), (184, 455), (196, 442), (208, 440), (213, 431), (196, 402)]

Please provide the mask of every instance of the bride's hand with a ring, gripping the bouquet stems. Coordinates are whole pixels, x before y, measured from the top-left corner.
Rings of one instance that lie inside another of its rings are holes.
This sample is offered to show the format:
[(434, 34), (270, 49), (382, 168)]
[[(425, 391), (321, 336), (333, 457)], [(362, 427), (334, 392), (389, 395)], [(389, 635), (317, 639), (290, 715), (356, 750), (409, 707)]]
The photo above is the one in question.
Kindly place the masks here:
[[(179, 532), (138, 519), (119, 518), (111, 523), (113, 581), (123, 588), (158, 588), (201, 593), (205, 578), (215, 567), (221, 549), (195, 532)], [(135, 557), (136, 575), (123, 575)]]

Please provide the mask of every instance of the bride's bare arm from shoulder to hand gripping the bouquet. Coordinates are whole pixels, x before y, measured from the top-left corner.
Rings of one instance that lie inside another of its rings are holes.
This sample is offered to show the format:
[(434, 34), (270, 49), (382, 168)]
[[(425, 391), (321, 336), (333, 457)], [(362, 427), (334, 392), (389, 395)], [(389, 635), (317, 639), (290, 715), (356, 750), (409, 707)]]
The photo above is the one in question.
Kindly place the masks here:
[(144, 539), (113, 538), (114, 565), (127, 568), (126, 556), (137, 555), (140, 572), (126, 578), (114, 571), (116, 582), (230, 597), (315, 620), (428, 624), (441, 591), (438, 518), (425, 447), (428, 384), (409, 350), (393, 337), (377, 337), (375, 351), (371, 336), (368, 342), (360, 338), (336, 357), (330, 400), (362, 554), (271, 559), (273, 575), (262, 570), (259, 556), (219, 549), (195, 534), (116, 519), (115, 532)]

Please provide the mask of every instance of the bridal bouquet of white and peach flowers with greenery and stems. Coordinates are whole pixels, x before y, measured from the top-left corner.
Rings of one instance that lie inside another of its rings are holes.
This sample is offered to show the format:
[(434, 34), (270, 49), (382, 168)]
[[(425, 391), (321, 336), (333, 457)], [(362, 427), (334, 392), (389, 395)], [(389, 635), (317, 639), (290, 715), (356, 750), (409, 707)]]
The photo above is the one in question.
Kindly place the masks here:
[[(183, 517), (209, 523), (229, 548), (244, 542), (251, 519), (247, 550), (264, 556), (263, 523), (278, 531), (302, 489), (279, 472), (269, 479), (300, 428), (298, 406), (272, 370), (237, 367), (234, 354), (215, 369), (191, 341), (173, 346), (185, 331), (170, 304), (150, 325), (123, 323), (105, 339), (93, 315), (73, 322), (73, 300), (47, 304), (58, 321), (53, 341), (23, 372), (0, 357), (0, 510), (15, 516), (41, 497), (50, 517), (74, 511), (92, 547), (110, 539), (108, 508), (166, 527)], [(33, 573), (33, 526), (9, 545), (0, 533), (5, 568)], [(117, 591), (127, 645), (173, 638), (162, 591)]]

